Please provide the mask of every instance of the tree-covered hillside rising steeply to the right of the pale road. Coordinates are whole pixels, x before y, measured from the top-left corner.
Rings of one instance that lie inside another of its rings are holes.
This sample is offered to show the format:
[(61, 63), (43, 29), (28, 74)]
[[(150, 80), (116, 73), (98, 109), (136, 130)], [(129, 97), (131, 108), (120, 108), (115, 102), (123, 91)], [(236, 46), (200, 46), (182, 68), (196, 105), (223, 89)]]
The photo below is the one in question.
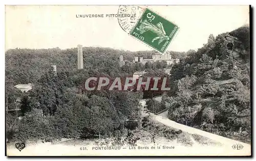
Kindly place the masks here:
[[(187, 57), (171, 71), (168, 117), (205, 131), (250, 143), (250, 76), (248, 69), (232, 57), (225, 35), (237, 37), (245, 62), (250, 57), (250, 32), (243, 26), (216, 38)], [(230, 48), (231, 49), (231, 48)]]

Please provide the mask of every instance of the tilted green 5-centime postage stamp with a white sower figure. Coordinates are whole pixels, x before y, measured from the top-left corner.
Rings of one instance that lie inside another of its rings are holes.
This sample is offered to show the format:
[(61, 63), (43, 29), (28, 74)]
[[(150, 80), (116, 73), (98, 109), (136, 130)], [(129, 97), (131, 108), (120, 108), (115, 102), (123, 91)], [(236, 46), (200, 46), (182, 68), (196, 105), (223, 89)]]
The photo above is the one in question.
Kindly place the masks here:
[(150, 9), (145, 9), (130, 34), (164, 53), (178, 29), (176, 24), (159, 16)]

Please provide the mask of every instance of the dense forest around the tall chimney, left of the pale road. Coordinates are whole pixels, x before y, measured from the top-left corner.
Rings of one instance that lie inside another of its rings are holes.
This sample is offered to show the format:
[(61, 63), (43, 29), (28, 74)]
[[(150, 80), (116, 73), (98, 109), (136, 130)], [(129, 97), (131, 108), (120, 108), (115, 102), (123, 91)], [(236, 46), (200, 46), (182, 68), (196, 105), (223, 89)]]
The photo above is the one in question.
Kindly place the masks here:
[[(6, 115), (8, 140), (120, 136), (127, 120), (138, 120), (142, 91), (85, 91), (89, 77), (127, 77), (146, 70), (164, 73), (166, 62), (132, 63), (134, 57), (151, 58), (156, 51), (124, 51), (83, 47), (84, 69), (77, 69), (77, 48), (9, 49), (6, 51)], [(177, 54), (178, 52), (176, 52)], [(125, 65), (119, 66), (123, 55)], [(57, 76), (51, 65), (57, 66)], [(14, 86), (33, 83), (22, 93)], [(161, 94), (161, 93), (159, 93)], [(149, 95), (149, 94), (148, 94)], [(22, 118), (19, 119), (18, 118)]]

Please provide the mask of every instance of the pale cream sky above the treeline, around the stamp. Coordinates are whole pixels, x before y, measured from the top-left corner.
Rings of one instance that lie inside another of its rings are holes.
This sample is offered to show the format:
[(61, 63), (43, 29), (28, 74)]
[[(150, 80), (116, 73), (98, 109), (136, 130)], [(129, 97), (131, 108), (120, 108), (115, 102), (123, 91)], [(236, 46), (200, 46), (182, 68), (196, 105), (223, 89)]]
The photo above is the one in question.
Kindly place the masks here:
[[(6, 49), (101, 46), (151, 50), (125, 33), (113, 18), (76, 18), (77, 14), (116, 14), (119, 6), (7, 6)], [(208, 36), (249, 24), (249, 6), (150, 6), (179, 26), (167, 50), (202, 47)]]

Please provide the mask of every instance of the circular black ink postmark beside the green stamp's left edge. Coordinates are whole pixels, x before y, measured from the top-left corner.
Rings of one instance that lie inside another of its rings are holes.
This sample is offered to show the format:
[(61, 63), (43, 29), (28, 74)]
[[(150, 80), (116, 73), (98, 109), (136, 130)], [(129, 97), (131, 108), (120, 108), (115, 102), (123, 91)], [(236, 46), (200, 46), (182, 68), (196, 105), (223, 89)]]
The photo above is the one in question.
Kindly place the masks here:
[(146, 6), (126, 6), (121, 5), (118, 9), (118, 14), (126, 14), (133, 16), (118, 17), (118, 23), (126, 33), (130, 33), (133, 27), (138, 22), (140, 16), (144, 12)]

